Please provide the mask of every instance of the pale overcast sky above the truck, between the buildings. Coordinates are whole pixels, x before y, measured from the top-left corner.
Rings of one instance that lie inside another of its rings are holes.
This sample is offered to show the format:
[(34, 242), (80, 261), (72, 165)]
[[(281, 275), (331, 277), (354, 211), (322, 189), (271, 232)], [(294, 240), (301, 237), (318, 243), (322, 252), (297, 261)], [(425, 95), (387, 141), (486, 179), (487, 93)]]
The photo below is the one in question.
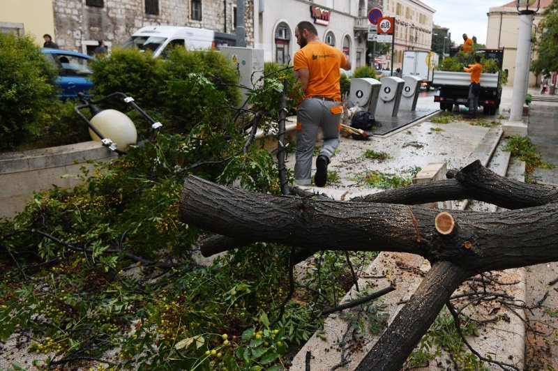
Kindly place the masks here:
[(488, 26), (488, 9), (502, 6), (510, 0), (421, 0), (436, 10), (434, 23), (448, 27), (451, 40), (457, 44), (463, 43), (461, 37), (467, 33), (469, 38), (476, 36), (477, 43), (486, 43), (486, 29)]

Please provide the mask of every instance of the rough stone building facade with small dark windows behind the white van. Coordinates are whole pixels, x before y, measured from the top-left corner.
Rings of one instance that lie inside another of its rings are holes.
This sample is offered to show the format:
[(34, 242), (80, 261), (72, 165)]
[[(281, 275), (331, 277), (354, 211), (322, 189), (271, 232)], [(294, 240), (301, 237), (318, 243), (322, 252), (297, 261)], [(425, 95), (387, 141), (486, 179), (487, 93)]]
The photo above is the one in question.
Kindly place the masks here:
[[(246, 42), (253, 46), (254, 0), (245, 1)], [(234, 33), (236, 0), (52, 0), (54, 38), (62, 49), (91, 52), (104, 40), (121, 45), (144, 26), (168, 25)]]

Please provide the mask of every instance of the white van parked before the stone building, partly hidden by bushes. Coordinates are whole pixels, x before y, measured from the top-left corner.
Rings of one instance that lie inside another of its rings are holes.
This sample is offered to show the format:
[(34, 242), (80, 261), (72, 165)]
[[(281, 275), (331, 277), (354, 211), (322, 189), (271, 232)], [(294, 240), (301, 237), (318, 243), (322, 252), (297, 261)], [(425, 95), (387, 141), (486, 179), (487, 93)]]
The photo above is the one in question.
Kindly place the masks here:
[(234, 46), (236, 37), (210, 29), (194, 29), (177, 26), (147, 26), (128, 38), (122, 47), (137, 47), (151, 50), (153, 56), (165, 55), (171, 47), (181, 45), (188, 50), (211, 49), (219, 46)]

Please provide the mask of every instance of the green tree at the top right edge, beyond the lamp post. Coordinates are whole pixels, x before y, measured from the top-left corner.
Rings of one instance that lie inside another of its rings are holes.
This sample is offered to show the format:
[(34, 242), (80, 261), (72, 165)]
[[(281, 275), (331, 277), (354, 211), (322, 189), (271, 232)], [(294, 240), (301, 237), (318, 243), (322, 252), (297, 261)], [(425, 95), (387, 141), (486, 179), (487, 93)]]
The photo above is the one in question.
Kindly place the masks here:
[(558, 2), (553, 1), (543, 12), (543, 19), (538, 24), (543, 32), (535, 41), (538, 56), (531, 63), (534, 73), (558, 70)]

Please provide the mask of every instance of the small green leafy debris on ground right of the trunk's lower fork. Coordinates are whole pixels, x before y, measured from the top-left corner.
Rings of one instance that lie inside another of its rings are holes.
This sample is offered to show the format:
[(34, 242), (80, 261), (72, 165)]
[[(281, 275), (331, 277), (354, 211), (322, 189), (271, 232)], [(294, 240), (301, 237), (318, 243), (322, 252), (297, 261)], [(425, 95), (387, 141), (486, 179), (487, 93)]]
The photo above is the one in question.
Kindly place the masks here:
[[(460, 316), (461, 332), (465, 336), (478, 336), (478, 327), (474, 321), (466, 316)], [(436, 356), (446, 352), (453, 361), (455, 370), (488, 370), (483, 361), (467, 350), (465, 342), (455, 328), (453, 316), (446, 307), (436, 317), (428, 332), (418, 343), (418, 349), (407, 358), (406, 368), (420, 368), (428, 366)]]

